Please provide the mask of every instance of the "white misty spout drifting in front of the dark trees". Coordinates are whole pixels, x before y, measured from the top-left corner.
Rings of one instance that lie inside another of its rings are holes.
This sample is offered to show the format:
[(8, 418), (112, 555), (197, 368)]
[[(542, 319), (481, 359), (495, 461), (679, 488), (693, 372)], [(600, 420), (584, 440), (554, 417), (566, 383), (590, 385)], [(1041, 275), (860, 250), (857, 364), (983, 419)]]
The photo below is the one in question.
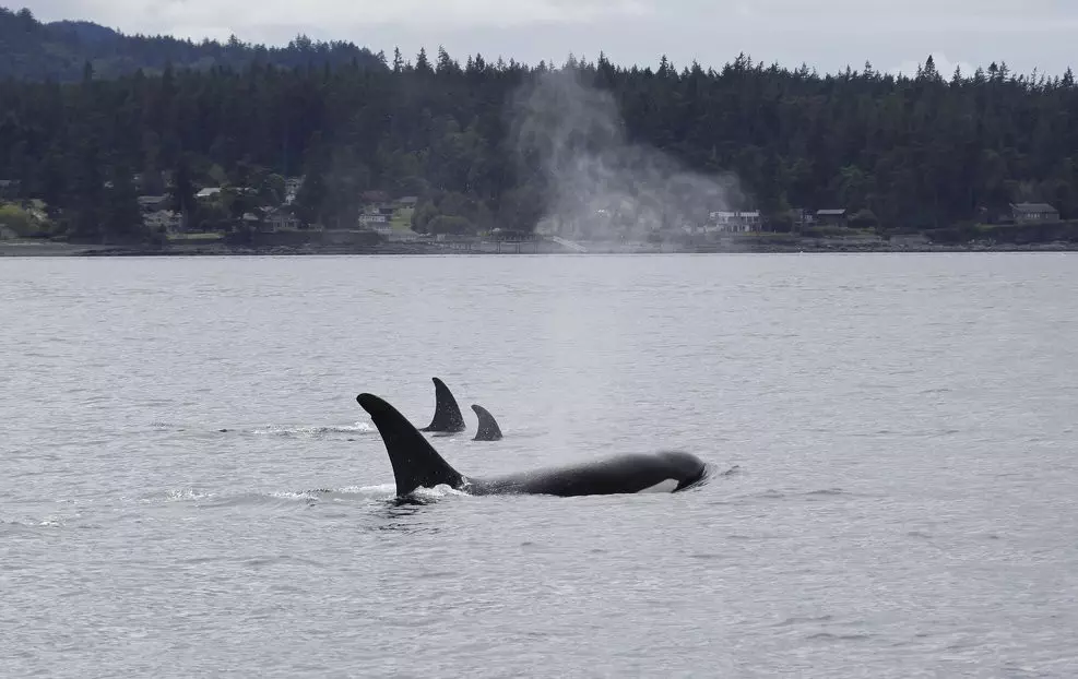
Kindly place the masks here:
[(536, 74), (510, 106), (519, 171), (538, 175), (545, 187), (540, 234), (643, 241), (703, 225), (742, 200), (735, 176), (688, 171), (631, 142), (611, 94), (581, 83), (573, 70)]

